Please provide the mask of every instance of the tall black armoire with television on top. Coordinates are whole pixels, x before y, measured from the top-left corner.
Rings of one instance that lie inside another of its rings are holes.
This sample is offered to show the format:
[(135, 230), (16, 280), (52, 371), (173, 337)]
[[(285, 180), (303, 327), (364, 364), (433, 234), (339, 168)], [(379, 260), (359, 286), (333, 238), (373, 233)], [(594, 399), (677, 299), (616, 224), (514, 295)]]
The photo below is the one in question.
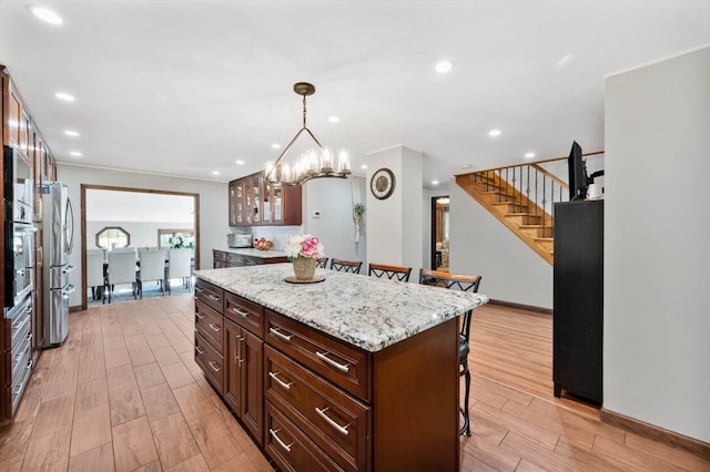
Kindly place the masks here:
[(601, 403), (604, 199), (555, 205), (552, 380)]

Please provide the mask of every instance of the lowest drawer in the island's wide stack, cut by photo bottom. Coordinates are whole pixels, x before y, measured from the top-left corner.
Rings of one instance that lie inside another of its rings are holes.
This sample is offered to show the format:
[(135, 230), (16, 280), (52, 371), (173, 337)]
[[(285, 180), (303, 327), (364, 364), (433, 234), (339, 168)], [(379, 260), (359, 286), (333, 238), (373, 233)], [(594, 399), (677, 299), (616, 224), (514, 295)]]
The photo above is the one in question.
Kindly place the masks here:
[(283, 471), (342, 471), (268, 401), (264, 449)]

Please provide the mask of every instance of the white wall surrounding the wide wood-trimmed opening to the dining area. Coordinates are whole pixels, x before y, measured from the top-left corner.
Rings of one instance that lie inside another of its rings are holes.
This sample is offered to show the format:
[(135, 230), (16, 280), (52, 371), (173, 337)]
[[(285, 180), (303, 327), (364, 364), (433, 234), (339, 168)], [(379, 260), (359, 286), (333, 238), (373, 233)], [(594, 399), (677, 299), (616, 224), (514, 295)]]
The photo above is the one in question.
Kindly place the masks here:
[[(220, 182), (174, 178), (151, 174), (109, 171), (105, 168), (80, 167), (59, 163), (57, 179), (69, 185), (69, 195), (74, 202), (77, 236), (69, 263), (77, 267), (70, 274), (70, 284), (81, 287), (81, 184), (110, 185), (116, 187), (149, 188), (170, 192), (200, 194), (200, 267), (212, 268), (212, 248), (226, 245), (227, 184)], [(139, 211), (136, 208), (136, 211)], [(75, 290), (69, 299), (70, 306), (81, 305), (81, 291)]]

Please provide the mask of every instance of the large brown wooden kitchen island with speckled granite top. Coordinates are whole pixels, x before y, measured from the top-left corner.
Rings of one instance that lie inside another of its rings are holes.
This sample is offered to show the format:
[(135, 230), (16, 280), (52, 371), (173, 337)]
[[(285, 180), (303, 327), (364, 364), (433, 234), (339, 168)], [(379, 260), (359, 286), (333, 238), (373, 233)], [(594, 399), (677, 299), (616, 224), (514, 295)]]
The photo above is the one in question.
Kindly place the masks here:
[(283, 470), (458, 470), (458, 315), (487, 297), (290, 264), (200, 270), (195, 360)]

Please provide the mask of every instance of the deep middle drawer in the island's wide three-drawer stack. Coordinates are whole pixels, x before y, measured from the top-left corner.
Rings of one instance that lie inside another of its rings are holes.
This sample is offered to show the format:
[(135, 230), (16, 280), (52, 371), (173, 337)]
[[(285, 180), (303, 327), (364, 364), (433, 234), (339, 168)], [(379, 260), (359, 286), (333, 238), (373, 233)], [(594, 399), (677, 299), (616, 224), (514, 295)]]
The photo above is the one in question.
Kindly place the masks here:
[(344, 470), (367, 470), (369, 408), (266, 346), (266, 398)]

